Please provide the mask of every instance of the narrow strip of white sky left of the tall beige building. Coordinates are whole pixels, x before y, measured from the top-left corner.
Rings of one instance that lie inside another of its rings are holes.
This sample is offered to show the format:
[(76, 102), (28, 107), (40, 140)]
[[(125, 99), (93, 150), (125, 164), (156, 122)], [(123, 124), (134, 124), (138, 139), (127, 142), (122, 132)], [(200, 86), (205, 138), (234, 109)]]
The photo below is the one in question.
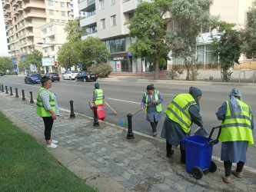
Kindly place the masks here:
[(5, 32), (5, 18), (2, 11), (2, 1), (0, 3), (0, 57), (11, 56), (8, 54), (8, 45)]

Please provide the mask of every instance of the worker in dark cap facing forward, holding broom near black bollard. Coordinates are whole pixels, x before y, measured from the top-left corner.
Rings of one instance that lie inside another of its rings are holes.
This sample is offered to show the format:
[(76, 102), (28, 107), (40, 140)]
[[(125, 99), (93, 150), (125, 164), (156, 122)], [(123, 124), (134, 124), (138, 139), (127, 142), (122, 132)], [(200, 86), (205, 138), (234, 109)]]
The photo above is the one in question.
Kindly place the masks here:
[[(161, 97), (160, 91), (155, 90), (154, 84), (149, 84), (147, 86), (147, 92), (143, 94), (141, 100), (141, 111), (145, 109), (147, 114), (146, 120), (150, 122), (153, 136), (158, 135), (156, 127), (158, 126), (158, 121), (161, 120), (161, 103), (163, 98)], [(145, 106), (148, 106), (145, 108)]]

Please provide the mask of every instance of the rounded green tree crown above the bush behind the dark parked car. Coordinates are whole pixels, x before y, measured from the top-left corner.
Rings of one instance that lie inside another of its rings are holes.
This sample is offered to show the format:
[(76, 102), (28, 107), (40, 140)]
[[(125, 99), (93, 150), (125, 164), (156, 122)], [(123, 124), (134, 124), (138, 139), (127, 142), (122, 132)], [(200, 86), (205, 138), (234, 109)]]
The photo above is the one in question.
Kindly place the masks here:
[(82, 64), (91, 66), (93, 64), (102, 64), (108, 61), (110, 53), (106, 45), (99, 39), (88, 37), (81, 41), (81, 59)]

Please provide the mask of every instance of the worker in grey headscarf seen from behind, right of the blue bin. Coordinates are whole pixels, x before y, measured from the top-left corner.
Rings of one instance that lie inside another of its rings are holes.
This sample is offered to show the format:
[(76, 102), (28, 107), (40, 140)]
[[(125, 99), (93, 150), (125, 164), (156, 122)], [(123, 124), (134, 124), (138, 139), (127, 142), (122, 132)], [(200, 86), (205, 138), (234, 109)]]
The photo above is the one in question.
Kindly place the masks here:
[[(242, 170), (246, 159), (248, 146), (254, 145), (252, 130), (254, 129), (254, 117), (251, 107), (242, 101), (238, 88), (233, 88), (228, 95), (229, 101), (224, 101), (216, 113), (221, 120), (221, 161), (224, 161), (225, 174), (222, 179), (225, 183), (231, 183), (231, 173), (235, 177), (242, 178)], [(237, 164), (235, 170), (231, 170), (232, 163)]]

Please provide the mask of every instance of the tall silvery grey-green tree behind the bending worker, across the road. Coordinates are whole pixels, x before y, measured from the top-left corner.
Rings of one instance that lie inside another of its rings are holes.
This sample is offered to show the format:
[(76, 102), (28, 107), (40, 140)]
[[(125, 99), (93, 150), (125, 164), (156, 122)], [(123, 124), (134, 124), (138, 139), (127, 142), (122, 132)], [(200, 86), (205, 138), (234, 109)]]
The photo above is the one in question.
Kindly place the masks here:
[(195, 47), (201, 28), (210, 28), (217, 22), (217, 17), (210, 15), (212, 0), (175, 0), (171, 4), (172, 27), (168, 29), (165, 39), (171, 49), (173, 58), (183, 58), (189, 70), (194, 65)]

